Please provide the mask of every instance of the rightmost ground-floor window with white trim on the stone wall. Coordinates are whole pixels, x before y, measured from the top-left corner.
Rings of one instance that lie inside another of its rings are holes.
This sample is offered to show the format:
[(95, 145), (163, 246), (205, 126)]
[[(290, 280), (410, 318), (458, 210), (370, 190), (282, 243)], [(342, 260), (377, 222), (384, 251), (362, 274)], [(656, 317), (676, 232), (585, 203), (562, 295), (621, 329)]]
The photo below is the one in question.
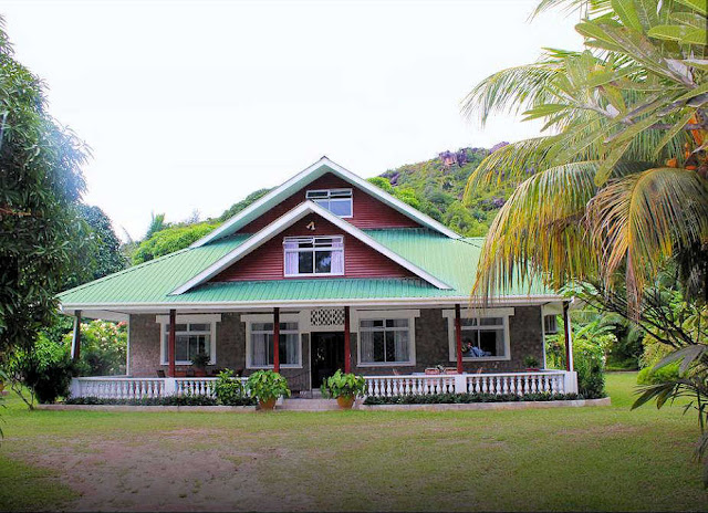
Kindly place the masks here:
[[(455, 311), (444, 311), (448, 320), (450, 362), (457, 359)], [(509, 316), (513, 308), (468, 311), (460, 317), (464, 360), (509, 359)]]

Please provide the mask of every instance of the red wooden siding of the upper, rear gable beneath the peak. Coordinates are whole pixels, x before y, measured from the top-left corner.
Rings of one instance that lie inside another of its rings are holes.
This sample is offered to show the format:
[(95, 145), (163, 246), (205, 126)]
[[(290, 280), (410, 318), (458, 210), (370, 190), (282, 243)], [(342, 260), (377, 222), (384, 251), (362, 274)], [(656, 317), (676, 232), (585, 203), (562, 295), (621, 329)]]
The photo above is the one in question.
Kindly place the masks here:
[(270, 209), (268, 212), (263, 213), (260, 218), (246, 224), (238, 232), (256, 233), (260, 231), (263, 227), (270, 224), (282, 214), (288, 213), (298, 205), (305, 201), (305, 192), (309, 189), (311, 190), (311, 189), (342, 189), (342, 188), (352, 189), (352, 205), (354, 207), (354, 211), (353, 211), (354, 216), (352, 218), (346, 218), (346, 221), (351, 222), (356, 228), (367, 229), (367, 228), (419, 228), (420, 227), (419, 223), (417, 223), (409, 217), (404, 216), (398, 210), (391, 208), (386, 203), (366, 193), (362, 189), (354, 187), (352, 184), (341, 179), (336, 175), (327, 172), (326, 175), (322, 175), (316, 180), (310, 182), (306, 187), (300, 189), (294, 195), (285, 198), (275, 207)]

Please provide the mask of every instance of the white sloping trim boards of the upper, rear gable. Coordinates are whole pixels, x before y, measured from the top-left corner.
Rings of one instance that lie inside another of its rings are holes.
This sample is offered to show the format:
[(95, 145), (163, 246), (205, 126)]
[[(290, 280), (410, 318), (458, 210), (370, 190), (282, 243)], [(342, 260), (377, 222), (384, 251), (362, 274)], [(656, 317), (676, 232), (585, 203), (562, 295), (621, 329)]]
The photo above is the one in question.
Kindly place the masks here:
[(384, 203), (399, 211), (404, 216), (414, 219), (419, 222), (423, 227), (435, 230), (439, 233), (442, 233), (446, 237), (451, 239), (459, 239), (460, 235), (455, 233), (449, 228), (439, 223), (435, 219), (426, 216), (425, 213), (414, 209), (409, 205), (404, 203), (397, 198), (394, 198), (388, 192), (383, 191), (378, 187), (369, 184), (365, 179), (354, 175), (353, 172), (344, 169), (336, 163), (333, 163), (326, 157), (322, 157), (320, 160), (314, 163), (312, 166), (308, 167), (303, 171), (299, 172), (290, 180), (285, 181), (280, 187), (271, 190), (269, 193), (260, 198), (258, 201), (254, 201), (246, 209), (241, 210), (239, 213), (233, 216), (231, 219), (226, 221), (219, 228), (202, 237), (198, 241), (191, 244), (191, 248), (199, 248), (209, 242), (212, 242), (218, 239), (222, 239), (225, 237), (231, 235), (236, 233), (240, 228), (247, 226), (249, 222), (262, 216), (266, 211), (271, 209), (274, 205), (278, 205), (283, 199), (288, 198), (292, 193), (305, 187), (311, 181), (320, 178), (321, 176), (332, 172), (345, 181), (358, 187), (360, 189), (366, 191), (371, 196), (379, 199)]

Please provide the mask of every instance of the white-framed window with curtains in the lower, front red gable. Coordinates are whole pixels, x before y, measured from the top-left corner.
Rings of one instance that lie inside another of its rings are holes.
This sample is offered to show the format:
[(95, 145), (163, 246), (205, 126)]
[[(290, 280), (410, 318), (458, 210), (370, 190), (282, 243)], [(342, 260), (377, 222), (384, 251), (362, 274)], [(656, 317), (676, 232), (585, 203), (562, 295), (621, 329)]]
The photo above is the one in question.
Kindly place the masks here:
[(344, 274), (344, 237), (285, 237), (285, 276)]

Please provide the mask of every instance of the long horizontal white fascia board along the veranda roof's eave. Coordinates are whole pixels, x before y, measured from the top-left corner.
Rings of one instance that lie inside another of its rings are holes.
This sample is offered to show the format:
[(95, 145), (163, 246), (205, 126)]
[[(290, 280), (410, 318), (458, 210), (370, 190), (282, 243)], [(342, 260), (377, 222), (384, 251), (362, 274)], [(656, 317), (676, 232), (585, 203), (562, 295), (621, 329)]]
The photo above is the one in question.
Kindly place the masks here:
[[(558, 295), (514, 295), (503, 296), (492, 302), (489, 307), (501, 306), (540, 306), (549, 301), (568, 300)], [(408, 306), (408, 307), (445, 307), (455, 304), (466, 305), (469, 303), (469, 296), (449, 296), (449, 297), (381, 297), (381, 299), (334, 299), (334, 300), (272, 300), (272, 301), (228, 301), (228, 302), (164, 302), (164, 303), (76, 303), (61, 305), (62, 313), (73, 315), (74, 310), (91, 308), (93, 311), (119, 308), (122, 312), (128, 313), (149, 313), (157, 314), (178, 310), (179, 312), (253, 312), (258, 308), (319, 308), (322, 306), (356, 306), (356, 307), (382, 307), (382, 306)]]

